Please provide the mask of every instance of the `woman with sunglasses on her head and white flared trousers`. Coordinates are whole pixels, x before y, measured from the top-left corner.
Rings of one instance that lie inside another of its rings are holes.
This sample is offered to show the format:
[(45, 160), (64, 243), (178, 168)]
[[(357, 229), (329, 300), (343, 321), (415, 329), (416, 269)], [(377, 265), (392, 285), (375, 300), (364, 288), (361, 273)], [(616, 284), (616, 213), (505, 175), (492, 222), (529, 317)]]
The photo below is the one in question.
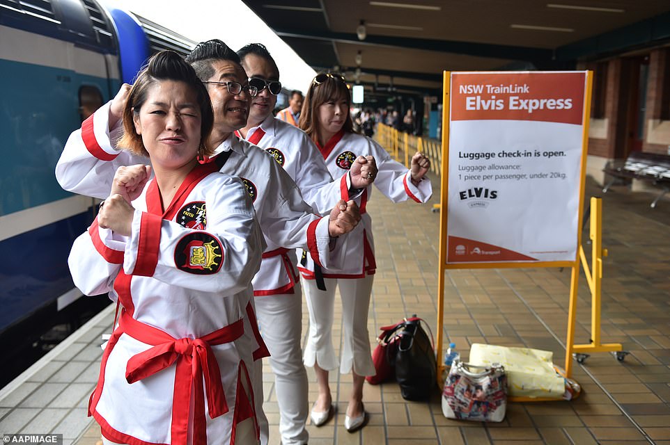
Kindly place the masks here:
[[(318, 145), (332, 177), (340, 177), (357, 156), (366, 156), (377, 163), (374, 184), (394, 202), (412, 199), (426, 202), (433, 194), (430, 181), (424, 177), (430, 161), (421, 153), (412, 156), (408, 170), (392, 160), (389, 154), (371, 138), (354, 133), (350, 115), (351, 97), (341, 74), (318, 74), (305, 96), (299, 127)], [(336, 286), (342, 298), (343, 347), (339, 368), (341, 373), (352, 373), (352, 392), (345, 414), (344, 425), (349, 432), (365, 425), (367, 414), (363, 406), (363, 382), (366, 375), (374, 375), (370, 341), (368, 339), (368, 306), (375, 273), (375, 254), (372, 220), (365, 211), (372, 186), (366, 187), (357, 198), (361, 223), (341, 237), (335, 255), (343, 268), (315, 268), (306, 257), (302, 267), (303, 289), (309, 309), (309, 337), (304, 351), (304, 364), (313, 366), (319, 385), (319, 395), (312, 407), (312, 422), (326, 423), (334, 411), (328, 385), (328, 372), (338, 368), (338, 359), (332, 343), (332, 323)], [(347, 197), (348, 199), (348, 197)], [(318, 289), (320, 275), (324, 277), (325, 291)]]

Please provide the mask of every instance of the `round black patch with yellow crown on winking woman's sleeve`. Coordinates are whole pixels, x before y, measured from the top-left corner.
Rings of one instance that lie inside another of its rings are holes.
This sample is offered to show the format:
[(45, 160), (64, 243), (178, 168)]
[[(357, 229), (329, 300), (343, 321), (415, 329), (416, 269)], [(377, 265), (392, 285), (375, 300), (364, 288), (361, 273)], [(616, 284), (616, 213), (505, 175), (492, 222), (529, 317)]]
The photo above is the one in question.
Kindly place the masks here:
[(175, 248), (175, 264), (179, 270), (196, 275), (217, 273), (224, 261), (219, 240), (206, 232), (183, 236)]

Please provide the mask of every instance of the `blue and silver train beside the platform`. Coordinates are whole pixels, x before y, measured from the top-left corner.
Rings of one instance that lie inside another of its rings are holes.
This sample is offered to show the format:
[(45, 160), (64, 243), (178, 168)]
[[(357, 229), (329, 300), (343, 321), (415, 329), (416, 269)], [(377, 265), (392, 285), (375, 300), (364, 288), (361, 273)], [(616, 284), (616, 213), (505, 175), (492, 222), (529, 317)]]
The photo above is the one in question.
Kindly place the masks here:
[[(54, 176), (70, 132), (130, 83), (148, 56), (186, 54), (194, 44), (95, 0), (0, 0), (3, 351), (25, 353), (20, 346), (36, 343), (41, 328), (81, 296), (67, 259), (95, 212), (91, 198), (63, 191)], [(12, 362), (3, 359), (3, 367)]]

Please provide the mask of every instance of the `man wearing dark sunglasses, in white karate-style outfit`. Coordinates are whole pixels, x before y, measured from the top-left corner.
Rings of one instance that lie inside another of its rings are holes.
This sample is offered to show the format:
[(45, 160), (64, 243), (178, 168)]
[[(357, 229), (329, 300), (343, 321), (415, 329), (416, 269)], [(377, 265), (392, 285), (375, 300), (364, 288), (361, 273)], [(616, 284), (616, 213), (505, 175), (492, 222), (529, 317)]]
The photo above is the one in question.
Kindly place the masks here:
[[(293, 178), (304, 200), (320, 212), (327, 212), (341, 198), (350, 200), (372, 183), (377, 174), (374, 159), (360, 156), (350, 172), (332, 180), (323, 156), (304, 131), (272, 115), (281, 91), (279, 69), (270, 52), (258, 43), (237, 51), (249, 75), (249, 86), (258, 89), (251, 99), (247, 125), (238, 131), (242, 138), (266, 149)], [(279, 260), (279, 257), (277, 258)], [(265, 259), (263, 261), (266, 261)], [(290, 275), (297, 277), (295, 262), (288, 263)], [(275, 375), (281, 443), (305, 444), (309, 413), (307, 373), (302, 363), (302, 291), (299, 280), (292, 289), (258, 293), (256, 311), (260, 331), (270, 350), (270, 366)]]

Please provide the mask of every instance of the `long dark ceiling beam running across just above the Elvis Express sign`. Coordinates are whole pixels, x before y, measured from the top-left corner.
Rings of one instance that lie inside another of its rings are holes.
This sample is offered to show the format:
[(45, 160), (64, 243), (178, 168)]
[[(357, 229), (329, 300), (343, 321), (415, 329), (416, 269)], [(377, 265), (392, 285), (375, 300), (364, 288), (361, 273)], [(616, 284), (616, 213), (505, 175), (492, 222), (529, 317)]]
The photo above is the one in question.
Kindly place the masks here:
[(331, 31), (305, 31), (303, 29), (274, 28), (279, 37), (324, 40), (338, 43), (351, 43), (371, 46), (425, 49), (467, 56), (504, 58), (512, 60), (544, 61), (552, 60), (551, 49), (516, 47), (505, 44), (489, 44), (476, 42), (458, 42), (455, 40), (417, 39), (391, 37), (387, 35), (368, 35), (365, 40), (358, 40), (354, 33), (334, 33)]

